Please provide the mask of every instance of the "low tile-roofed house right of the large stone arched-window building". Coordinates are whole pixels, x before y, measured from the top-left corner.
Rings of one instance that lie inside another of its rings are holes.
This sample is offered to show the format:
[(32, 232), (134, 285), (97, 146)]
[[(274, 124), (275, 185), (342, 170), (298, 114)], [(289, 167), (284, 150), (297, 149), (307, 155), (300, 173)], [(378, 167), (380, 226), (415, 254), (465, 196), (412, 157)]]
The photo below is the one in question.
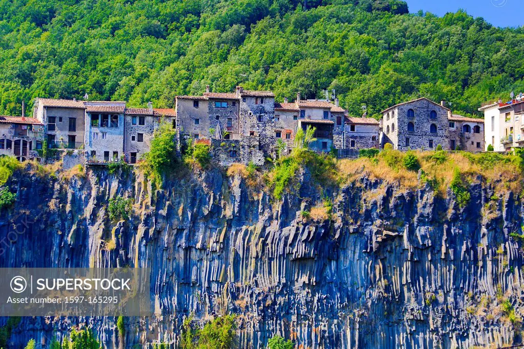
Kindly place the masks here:
[(455, 140), (461, 150), (484, 150), (484, 119), (453, 114), (449, 121), (449, 138)]

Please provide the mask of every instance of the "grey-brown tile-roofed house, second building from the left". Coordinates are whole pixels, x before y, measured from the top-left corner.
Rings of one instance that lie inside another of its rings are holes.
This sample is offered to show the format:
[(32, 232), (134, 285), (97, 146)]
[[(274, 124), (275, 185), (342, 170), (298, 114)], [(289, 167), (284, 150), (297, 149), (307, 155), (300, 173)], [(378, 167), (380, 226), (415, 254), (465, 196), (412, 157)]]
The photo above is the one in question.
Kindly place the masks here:
[(85, 120), (83, 102), (37, 98), (34, 104), (33, 117), (45, 125), (48, 147), (83, 148)]

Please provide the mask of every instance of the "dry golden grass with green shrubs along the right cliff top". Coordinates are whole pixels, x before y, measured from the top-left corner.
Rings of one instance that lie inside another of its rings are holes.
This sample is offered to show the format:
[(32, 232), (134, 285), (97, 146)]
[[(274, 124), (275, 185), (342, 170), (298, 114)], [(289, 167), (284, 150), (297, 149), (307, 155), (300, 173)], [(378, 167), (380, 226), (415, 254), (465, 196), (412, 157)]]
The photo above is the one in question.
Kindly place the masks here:
[[(420, 182), (417, 178), (419, 168), (422, 170)], [(467, 184), (477, 178), (492, 183), (497, 193), (512, 191), (521, 194), (523, 169), (521, 155), (443, 150), (401, 152), (389, 147), (372, 158), (337, 161), (337, 173), (343, 183), (367, 176), (372, 180), (397, 184), (400, 188), (416, 189), (427, 182), (442, 197), (445, 197), (447, 188), (460, 195), (463, 193), (461, 186), (467, 188)]]

